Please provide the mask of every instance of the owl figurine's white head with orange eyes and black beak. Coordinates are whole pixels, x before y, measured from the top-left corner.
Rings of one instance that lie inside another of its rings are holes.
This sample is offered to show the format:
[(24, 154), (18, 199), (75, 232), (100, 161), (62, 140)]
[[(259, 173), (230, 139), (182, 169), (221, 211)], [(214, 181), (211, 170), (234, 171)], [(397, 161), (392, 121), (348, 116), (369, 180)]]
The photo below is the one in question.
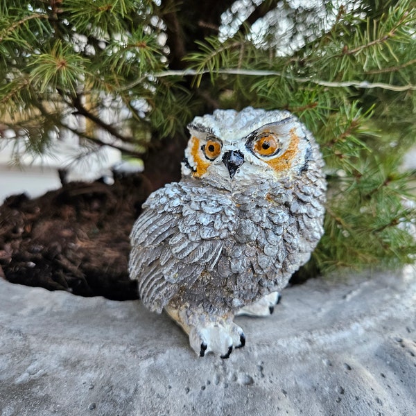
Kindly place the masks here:
[(182, 177), (218, 188), (288, 180), (308, 168), (311, 134), (288, 111), (216, 110), (188, 125)]

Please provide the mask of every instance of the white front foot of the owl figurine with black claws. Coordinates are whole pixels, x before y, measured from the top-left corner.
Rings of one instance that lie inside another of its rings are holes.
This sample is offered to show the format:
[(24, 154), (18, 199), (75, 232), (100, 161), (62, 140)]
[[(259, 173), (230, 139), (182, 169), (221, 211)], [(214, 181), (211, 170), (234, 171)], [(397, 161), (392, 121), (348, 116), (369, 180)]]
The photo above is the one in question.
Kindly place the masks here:
[(221, 358), (229, 358), (233, 348), (244, 347), (245, 336), (243, 329), (234, 322), (209, 322), (191, 327), (189, 343), (200, 357), (213, 352)]

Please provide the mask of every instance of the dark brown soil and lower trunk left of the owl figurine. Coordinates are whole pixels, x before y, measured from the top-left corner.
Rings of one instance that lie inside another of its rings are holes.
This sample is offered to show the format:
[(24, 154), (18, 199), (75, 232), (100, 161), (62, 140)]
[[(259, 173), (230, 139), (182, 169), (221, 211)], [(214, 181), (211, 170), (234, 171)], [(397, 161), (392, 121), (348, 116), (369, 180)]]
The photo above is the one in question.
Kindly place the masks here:
[(115, 175), (112, 185), (72, 182), (40, 198), (7, 198), (0, 207), (0, 278), (74, 295), (137, 299), (127, 268), (130, 231), (150, 192), (179, 179), (183, 147), (160, 142), (145, 161), (146, 175)]

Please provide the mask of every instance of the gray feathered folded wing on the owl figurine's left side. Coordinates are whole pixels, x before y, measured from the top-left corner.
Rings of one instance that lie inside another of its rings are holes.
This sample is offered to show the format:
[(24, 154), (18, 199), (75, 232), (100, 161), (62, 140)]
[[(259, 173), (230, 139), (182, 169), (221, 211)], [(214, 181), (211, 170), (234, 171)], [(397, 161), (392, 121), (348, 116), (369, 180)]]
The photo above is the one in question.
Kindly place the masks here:
[(133, 226), (129, 272), (150, 311), (161, 312), (181, 286), (218, 262), (233, 216), (206, 193), (168, 184), (150, 195)]

